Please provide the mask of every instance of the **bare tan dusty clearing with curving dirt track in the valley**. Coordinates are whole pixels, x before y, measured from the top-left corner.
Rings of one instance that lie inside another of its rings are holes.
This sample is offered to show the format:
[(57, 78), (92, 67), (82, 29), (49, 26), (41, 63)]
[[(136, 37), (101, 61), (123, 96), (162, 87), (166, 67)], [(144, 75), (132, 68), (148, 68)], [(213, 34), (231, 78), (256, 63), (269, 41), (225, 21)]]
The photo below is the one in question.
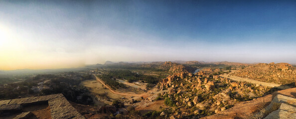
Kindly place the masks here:
[[(103, 84), (103, 85), (102, 85)], [(125, 83), (129, 84), (130, 86), (136, 85), (133, 83)], [(135, 99), (139, 101), (138, 103), (135, 104), (128, 104), (126, 103), (126, 106), (133, 105), (136, 107), (136, 110), (139, 110), (141, 113), (146, 113), (148, 111), (156, 110), (160, 111), (161, 109), (159, 107), (165, 108), (166, 106), (164, 105), (164, 100), (159, 100), (159, 101), (151, 101), (154, 100), (157, 97), (158, 93), (163, 93), (165, 91), (159, 91), (156, 87), (148, 90), (146, 93), (142, 94), (136, 94), (133, 91), (128, 92), (128, 90), (122, 91), (122, 90), (112, 90), (108, 85), (105, 85), (102, 80), (97, 79), (97, 80), (86, 80), (82, 82), (82, 85), (86, 86), (89, 88), (89, 90), (96, 95), (97, 97), (98, 94), (102, 94), (107, 92), (108, 97), (112, 99), (118, 99), (122, 100), (124, 102), (128, 102), (131, 99)], [(106, 87), (104, 89), (104, 86)], [(137, 85), (139, 86), (139, 85)], [(142, 86), (144, 87), (144, 86)], [(122, 98), (124, 97), (124, 98)], [(140, 97), (143, 97), (144, 99), (141, 99)], [(104, 102), (107, 104), (111, 104), (111, 102)]]

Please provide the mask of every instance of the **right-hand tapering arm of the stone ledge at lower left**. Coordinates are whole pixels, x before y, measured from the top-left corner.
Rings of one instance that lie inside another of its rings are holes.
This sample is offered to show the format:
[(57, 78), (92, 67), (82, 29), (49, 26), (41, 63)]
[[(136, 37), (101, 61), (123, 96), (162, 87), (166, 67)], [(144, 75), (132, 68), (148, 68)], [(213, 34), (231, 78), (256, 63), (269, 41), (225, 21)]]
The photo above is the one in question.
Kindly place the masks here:
[(65, 97), (48, 101), (51, 119), (85, 119), (79, 114)]

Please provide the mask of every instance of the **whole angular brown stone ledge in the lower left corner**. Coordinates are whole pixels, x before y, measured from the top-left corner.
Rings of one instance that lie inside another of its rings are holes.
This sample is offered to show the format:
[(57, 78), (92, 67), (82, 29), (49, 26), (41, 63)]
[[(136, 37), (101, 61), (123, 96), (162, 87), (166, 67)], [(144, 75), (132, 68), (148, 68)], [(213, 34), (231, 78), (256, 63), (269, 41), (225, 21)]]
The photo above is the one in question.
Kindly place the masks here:
[[(0, 101), (0, 114), (10, 111), (22, 111), (22, 106), (38, 103), (48, 103), (51, 119), (85, 119), (75, 110), (74, 107), (72, 107), (63, 94)], [(15, 119), (23, 119), (21, 117), (30, 117), (31, 114), (32, 113), (30, 112), (23, 112), (22, 114), (15, 117)]]

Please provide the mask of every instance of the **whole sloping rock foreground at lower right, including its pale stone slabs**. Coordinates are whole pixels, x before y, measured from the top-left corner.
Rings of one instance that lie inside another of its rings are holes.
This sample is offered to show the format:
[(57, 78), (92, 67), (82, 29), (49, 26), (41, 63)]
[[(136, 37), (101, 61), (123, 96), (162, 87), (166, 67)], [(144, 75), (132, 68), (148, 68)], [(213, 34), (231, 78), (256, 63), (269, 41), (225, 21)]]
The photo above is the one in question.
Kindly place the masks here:
[(295, 119), (295, 92), (296, 88), (276, 91), (202, 119)]

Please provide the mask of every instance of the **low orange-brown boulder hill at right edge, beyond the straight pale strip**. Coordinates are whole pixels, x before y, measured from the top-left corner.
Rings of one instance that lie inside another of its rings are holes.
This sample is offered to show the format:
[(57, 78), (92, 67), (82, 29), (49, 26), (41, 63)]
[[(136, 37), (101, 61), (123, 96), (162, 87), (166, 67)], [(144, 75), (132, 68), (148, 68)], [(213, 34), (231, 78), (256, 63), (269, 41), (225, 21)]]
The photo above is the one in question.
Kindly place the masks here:
[(289, 63), (259, 63), (239, 69), (231, 75), (277, 84), (290, 84), (296, 80), (296, 67)]

